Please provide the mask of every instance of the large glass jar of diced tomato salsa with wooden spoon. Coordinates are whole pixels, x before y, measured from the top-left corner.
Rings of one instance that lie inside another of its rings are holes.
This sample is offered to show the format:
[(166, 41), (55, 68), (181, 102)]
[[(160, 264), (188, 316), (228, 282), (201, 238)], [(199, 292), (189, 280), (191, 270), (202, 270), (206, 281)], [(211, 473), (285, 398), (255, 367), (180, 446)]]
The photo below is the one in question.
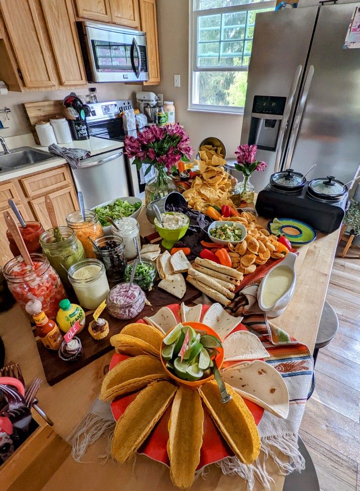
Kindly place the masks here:
[(7, 262), (3, 274), (13, 297), (26, 313), (28, 300), (40, 300), (49, 319), (55, 319), (58, 303), (66, 297), (59, 275), (44, 254), (30, 254), (33, 266), (21, 256)]

